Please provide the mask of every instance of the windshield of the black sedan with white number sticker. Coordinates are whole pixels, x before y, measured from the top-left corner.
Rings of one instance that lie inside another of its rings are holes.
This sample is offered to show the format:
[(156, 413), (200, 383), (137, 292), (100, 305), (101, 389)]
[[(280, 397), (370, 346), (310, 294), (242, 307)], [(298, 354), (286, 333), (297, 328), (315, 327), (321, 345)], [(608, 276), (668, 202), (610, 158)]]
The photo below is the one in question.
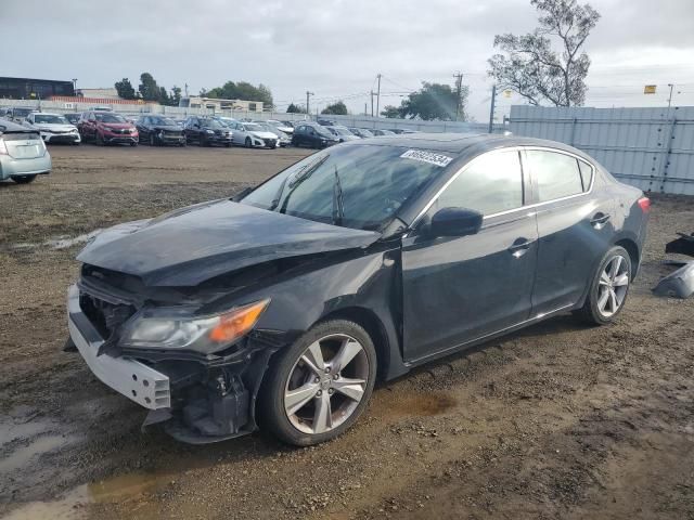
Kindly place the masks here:
[[(334, 223), (336, 185), (342, 225), (378, 230), (451, 159), (400, 146), (345, 146), (319, 152), (277, 174), (242, 199), (262, 209)], [(421, 157), (439, 157), (438, 164)], [(337, 181), (338, 180), (338, 181)]]

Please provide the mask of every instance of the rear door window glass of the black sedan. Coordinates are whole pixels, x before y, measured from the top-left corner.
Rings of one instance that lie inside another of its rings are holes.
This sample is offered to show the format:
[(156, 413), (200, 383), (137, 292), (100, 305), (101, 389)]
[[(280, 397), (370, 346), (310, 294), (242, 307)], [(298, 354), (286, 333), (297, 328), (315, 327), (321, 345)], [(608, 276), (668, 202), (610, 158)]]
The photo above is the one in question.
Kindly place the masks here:
[(528, 151), (527, 157), (538, 185), (538, 202), (544, 203), (583, 192), (576, 158), (539, 150)]

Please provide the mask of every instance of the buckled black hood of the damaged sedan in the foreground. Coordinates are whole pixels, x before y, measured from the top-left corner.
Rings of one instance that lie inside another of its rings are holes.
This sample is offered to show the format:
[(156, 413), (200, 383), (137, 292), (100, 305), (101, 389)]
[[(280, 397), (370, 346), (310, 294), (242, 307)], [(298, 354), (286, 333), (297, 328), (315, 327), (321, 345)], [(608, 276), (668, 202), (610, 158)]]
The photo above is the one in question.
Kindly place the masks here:
[(183, 287), (267, 261), (363, 248), (380, 237), (224, 199), (111, 227), (77, 260), (147, 286)]

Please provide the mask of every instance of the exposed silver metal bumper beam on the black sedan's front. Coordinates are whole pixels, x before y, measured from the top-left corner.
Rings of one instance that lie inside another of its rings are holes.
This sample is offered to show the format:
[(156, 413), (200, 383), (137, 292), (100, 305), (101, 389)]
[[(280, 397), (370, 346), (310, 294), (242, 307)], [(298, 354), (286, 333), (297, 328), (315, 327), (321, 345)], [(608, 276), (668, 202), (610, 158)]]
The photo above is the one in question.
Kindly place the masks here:
[(104, 339), (80, 309), (76, 285), (67, 292), (67, 325), (75, 347), (104, 385), (149, 410), (171, 406), (168, 376), (136, 360), (99, 355)]

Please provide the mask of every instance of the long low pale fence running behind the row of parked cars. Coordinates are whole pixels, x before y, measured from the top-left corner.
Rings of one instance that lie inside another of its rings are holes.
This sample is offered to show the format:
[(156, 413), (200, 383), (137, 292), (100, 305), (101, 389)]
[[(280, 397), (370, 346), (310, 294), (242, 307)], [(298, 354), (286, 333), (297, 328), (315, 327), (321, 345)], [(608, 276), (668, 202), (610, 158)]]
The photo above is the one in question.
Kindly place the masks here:
[[(97, 106), (95, 103), (66, 103), (62, 101), (37, 101), (37, 100), (0, 100), (0, 107), (26, 106), (43, 112), (54, 112), (66, 114), (70, 112), (85, 112)], [(252, 118), (257, 120), (279, 119), (285, 121), (301, 121), (307, 119), (305, 114), (286, 114), (283, 112), (247, 112), (247, 110), (217, 110), (209, 108), (183, 108), (179, 106), (163, 106), (154, 104), (108, 104), (99, 103), (98, 106), (108, 106), (114, 112), (125, 116), (136, 116), (138, 114), (165, 114), (174, 118), (183, 118), (191, 115), (209, 115), (233, 117), (235, 119)], [(316, 119), (311, 116), (310, 119)], [(421, 132), (473, 132), (486, 133), (488, 126), (479, 122), (462, 121), (422, 121), (413, 119), (386, 119), (384, 117), (371, 117), (364, 115), (333, 116), (319, 115), (318, 119), (334, 120), (338, 125), (346, 127), (369, 128), (369, 129), (408, 129)], [(502, 132), (503, 125), (494, 125), (494, 132)]]

